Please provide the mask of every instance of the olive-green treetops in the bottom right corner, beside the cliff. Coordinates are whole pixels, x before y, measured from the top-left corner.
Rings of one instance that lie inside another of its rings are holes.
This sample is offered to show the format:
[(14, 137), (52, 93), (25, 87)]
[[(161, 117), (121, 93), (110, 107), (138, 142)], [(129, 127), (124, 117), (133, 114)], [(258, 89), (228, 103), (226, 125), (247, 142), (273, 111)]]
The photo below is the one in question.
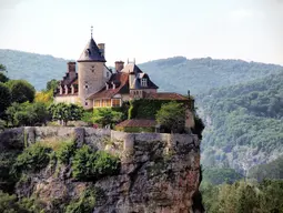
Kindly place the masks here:
[(201, 186), (205, 210), (211, 213), (282, 212), (283, 181), (235, 182)]

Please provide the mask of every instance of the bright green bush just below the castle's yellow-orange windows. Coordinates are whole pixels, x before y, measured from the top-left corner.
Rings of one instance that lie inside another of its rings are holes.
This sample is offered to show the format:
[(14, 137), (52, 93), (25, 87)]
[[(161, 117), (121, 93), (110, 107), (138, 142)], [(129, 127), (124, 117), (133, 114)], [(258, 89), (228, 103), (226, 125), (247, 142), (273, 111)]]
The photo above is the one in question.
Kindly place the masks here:
[(97, 122), (102, 126), (108, 124), (112, 126), (114, 123), (121, 121), (122, 115), (121, 112), (117, 112), (110, 108), (99, 108), (93, 112), (93, 122)]

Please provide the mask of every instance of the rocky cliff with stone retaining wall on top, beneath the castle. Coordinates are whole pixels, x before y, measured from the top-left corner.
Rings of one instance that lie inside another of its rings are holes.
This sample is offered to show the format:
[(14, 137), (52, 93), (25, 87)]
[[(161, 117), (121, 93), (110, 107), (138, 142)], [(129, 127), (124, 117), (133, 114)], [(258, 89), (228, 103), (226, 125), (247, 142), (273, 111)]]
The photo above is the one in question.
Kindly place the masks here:
[[(39, 197), (46, 212), (62, 212), (62, 203), (95, 192), (93, 212), (202, 212), (200, 140), (193, 134), (123, 133), (81, 128), (21, 128), (0, 134), (2, 152), (72, 138), (79, 149), (88, 144), (121, 160), (120, 172), (93, 181), (72, 176), (69, 164), (50, 161), (16, 185), (19, 199)], [(13, 145), (11, 145), (13, 144)], [(16, 145), (17, 144), (17, 145)]]

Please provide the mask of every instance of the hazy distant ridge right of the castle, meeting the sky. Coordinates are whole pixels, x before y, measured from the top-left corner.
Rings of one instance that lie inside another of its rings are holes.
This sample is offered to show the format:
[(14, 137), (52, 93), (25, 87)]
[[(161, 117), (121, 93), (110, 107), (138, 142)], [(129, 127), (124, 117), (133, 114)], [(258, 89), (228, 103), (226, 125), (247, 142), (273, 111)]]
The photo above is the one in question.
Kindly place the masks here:
[(283, 71), (274, 64), (242, 60), (215, 60), (211, 58), (185, 59), (175, 57), (140, 64), (162, 90), (192, 94), (213, 88), (233, 85)]

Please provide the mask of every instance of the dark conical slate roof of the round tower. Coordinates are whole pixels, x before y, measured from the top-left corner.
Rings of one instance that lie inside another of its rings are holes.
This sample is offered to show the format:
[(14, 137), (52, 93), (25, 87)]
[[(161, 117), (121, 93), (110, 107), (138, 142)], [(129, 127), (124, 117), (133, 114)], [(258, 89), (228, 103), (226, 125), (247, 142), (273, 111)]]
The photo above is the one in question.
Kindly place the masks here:
[(84, 62), (84, 61), (95, 61), (95, 62), (107, 61), (104, 57), (101, 54), (99, 47), (97, 45), (93, 38), (90, 39), (84, 50), (82, 51), (80, 59), (78, 60), (78, 62)]

